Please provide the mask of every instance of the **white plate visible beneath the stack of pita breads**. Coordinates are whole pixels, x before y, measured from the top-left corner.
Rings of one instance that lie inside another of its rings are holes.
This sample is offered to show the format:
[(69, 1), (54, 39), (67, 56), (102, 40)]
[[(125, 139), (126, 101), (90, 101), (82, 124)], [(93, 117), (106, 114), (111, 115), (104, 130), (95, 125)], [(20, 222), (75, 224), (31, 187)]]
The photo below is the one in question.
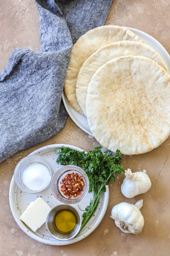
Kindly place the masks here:
[[(145, 42), (146, 45), (151, 46), (155, 51), (157, 51), (159, 53), (159, 55), (165, 61), (166, 66), (168, 67), (168, 71), (170, 73), (170, 56), (169, 56), (168, 52), (165, 50), (165, 48), (155, 38), (146, 34), (145, 32), (143, 32), (141, 30), (138, 30), (138, 29), (135, 29), (135, 28), (129, 28), (129, 27), (126, 27), (126, 28), (128, 28), (132, 32), (134, 32), (137, 36), (139, 36)], [(90, 128), (88, 126), (87, 118), (85, 116), (83, 116), (82, 114), (80, 114), (79, 112), (77, 112), (69, 104), (64, 92), (62, 94), (62, 99), (63, 99), (63, 102), (64, 102), (64, 106), (65, 106), (69, 116), (74, 121), (74, 123), (76, 123), (76, 125), (78, 125), (83, 131), (85, 131), (89, 135), (93, 136), (93, 134), (90, 132)]]

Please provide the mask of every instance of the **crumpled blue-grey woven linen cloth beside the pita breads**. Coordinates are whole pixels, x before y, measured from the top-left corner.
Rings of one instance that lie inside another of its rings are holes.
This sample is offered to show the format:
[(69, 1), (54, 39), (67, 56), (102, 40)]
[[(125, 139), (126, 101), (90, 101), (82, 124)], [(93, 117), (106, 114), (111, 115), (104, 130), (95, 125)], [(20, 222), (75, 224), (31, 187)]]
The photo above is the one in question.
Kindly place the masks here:
[(37, 0), (41, 51), (17, 48), (0, 73), (0, 162), (58, 133), (61, 95), (76, 40), (104, 25), (113, 0)]

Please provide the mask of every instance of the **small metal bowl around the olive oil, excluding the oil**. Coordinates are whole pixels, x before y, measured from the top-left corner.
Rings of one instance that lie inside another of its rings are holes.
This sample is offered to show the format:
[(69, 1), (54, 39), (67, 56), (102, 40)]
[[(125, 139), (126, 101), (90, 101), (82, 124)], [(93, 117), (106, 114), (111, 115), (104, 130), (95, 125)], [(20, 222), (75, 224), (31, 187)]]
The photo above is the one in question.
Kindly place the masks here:
[[(74, 213), (75, 218), (76, 218), (76, 226), (73, 229), (73, 231), (71, 231), (70, 233), (60, 233), (58, 232), (57, 228), (54, 225), (54, 218), (57, 215), (58, 212), (60, 212), (61, 210), (70, 210)], [(61, 204), (61, 205), (57, 205), (54, 206), (48, 213), (47, 215), (47, 219), (46, 219), (46, 227), (48, 232), (50, 233), (50, 235), (52, 237), (54, 237), (55, 239), (58, 239), (60, 241), (66, 241), (66, 240), (70, 240), (73, 237), (75, 237), (81, 228), (82, 225), (82, 218), (80, 213), (71, 205), (65, 205), (65, 204)]]

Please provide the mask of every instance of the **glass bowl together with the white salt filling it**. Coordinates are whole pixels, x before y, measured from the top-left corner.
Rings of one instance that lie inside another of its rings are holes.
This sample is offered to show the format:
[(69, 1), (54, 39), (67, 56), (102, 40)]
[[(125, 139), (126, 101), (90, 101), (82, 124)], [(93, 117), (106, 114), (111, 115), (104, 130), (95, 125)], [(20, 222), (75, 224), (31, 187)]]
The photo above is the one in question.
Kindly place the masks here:
[(52, 178), (49, 163), (41, 156), (27, 156), (21, 159), (14, 170), (17, 186), (27, 193), (38, 193), (46, 189)]

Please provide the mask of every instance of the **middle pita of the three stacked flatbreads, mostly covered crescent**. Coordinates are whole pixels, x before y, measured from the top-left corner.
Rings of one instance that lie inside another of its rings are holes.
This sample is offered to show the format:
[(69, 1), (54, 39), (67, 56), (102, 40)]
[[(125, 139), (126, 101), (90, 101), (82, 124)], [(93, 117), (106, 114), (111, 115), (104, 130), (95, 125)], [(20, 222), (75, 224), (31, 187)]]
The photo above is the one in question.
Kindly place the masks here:
[(94, 73), (106, 62), (125, 55), (145, 56), (157, 62), (166, 71), (167, 67), (161, 56), (150, 46), (135, 41), (118, 41), (104, 45), (92, 54), (81, 67), (76, 82), (76, 98), (86, 114), (87, 87)]

